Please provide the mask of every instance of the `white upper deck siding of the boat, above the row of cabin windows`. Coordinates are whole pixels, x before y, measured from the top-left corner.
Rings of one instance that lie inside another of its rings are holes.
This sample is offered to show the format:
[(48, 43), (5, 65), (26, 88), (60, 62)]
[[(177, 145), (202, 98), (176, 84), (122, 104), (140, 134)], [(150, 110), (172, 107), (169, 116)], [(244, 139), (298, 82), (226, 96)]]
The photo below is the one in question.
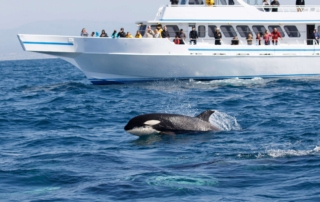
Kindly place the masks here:
[[(139, 21), (137, 24), (180, 24), (180, 23), (320, 23), (320, 5), (305, 6), (303, 12), (297, 12), (295, 5), (280, 6), (278, 12), (265, 12), (262, 5), (178, 5), (160, 7), (154, 20)], [(271, 10), (271, 6), (269, 9)]]

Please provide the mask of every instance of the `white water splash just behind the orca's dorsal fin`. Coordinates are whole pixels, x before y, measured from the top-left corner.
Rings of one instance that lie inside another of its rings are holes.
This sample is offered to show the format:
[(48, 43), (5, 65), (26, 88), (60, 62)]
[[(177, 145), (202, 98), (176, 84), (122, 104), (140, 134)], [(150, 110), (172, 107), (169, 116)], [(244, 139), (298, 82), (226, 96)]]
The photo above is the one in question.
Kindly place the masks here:
[(218, 126), (224, 131), (241, 130), (241, 126), (237, 122), (237, 119), (223, 112), (215, 111), (210, 116), (209, 121), (211, 124)]

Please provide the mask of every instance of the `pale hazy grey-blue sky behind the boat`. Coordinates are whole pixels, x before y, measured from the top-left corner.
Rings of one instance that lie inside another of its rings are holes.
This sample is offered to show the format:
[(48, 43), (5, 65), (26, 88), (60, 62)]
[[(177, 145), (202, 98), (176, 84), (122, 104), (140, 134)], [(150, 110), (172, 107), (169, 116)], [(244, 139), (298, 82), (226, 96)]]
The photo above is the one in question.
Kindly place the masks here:
[[(261, 4), (262, 0), (245, 0)], [(278, 0), (282, 5), (295, 0)], [(79, 35), (120, 27), (134, 32), (135, 22), (152, 20), (160, 6), (170, 0), (0, 0), (0, 54), (21, 52), (18, 33)], [(320, 0), (306, 0), (319, 5)]]

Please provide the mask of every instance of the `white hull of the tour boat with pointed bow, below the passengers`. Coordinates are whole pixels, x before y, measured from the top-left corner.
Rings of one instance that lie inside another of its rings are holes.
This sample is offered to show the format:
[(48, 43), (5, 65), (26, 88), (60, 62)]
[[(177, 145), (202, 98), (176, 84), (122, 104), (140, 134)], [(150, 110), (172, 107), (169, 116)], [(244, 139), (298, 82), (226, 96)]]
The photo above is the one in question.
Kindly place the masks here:
[(190, 46), (167, 39), (35, 35), (19, 39), (27, 51), (69, 61), (94, 84), (320, 74), (320, 46)]

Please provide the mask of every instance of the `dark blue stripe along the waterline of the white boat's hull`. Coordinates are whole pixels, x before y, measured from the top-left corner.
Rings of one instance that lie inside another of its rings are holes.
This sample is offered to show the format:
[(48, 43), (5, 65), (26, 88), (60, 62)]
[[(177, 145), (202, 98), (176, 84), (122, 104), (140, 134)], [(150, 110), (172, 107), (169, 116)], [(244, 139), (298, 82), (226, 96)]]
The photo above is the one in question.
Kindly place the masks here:
[(142, 83), (154, 81), (173, 81), (173, 80), (224, 80), (224, 79), (252, 79), (252, 78), (281, 78), (281, 77), (310, 77), (319, 76), (320, 74), (288, 74), (288, 75), (254, 75), (254, 76), (216, 76), (216, 77), (177, 77), (177, 78), (141, 78), (141, 79), (89, 79), (94, 85), (110, 85), (110, 84), (126, 84), (126, 83)]

